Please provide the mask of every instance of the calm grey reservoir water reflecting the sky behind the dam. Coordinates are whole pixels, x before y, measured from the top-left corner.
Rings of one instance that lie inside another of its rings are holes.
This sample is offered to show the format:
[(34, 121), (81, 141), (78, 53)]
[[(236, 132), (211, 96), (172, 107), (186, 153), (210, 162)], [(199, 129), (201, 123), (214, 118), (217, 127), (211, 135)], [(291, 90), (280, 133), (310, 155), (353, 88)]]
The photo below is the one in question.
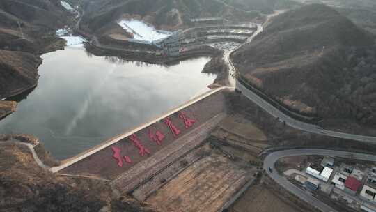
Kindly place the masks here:
[(75, 156), (207, 91), (207, 58), (175, 66), (120, 62), (67, 48), (43, 54), (38, 86), (0, 121), (0, 133), (36, 135), (55, 158)]

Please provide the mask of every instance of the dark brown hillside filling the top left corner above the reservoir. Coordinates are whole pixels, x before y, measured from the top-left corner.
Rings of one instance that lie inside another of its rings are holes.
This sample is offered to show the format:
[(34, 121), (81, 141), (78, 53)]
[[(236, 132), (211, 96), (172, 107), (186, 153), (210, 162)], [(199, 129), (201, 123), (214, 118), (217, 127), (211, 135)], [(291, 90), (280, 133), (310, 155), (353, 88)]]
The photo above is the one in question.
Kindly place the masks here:
[(68, 13), (58, 0), (2, 0), (0, 49), (47, 52), (52, 48), (49, 45), (61, 44), (55, 30), (64, 26), (67, 17)]

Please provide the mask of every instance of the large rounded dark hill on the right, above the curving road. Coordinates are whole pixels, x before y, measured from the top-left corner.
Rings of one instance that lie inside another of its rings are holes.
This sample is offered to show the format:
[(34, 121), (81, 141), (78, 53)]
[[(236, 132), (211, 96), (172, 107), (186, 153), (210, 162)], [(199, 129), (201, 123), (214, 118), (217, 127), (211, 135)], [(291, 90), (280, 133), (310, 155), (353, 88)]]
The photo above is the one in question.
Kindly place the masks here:
[(327, 119), (376, 124), (375, 38), (328, 6), (275, 17), (232, 55), (240, 75), (269, 96)]

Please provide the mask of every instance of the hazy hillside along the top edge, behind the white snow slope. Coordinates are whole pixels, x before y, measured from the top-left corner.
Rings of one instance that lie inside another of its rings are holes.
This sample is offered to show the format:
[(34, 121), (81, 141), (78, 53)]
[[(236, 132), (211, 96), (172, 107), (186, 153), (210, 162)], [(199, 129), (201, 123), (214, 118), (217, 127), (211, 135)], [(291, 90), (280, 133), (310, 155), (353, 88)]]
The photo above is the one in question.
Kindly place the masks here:
[(158, 29), (179, 29), (196, 17), (249, 21), (259, 15), (257, 11), (244, 11), (217, 0), (97, 0), (86, 1), (83, 25), (95, 32), (121, 17), (136, 17)]

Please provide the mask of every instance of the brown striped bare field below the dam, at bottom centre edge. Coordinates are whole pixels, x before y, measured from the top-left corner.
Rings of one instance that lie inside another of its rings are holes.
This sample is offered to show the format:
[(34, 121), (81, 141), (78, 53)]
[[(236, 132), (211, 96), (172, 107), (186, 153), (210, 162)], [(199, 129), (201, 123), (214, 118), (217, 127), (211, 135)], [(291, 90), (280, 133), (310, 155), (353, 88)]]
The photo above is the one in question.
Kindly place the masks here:
[(252, 176), (250, 169), (214, 154), (185, 169), (147, 202), (161, 211), (214, 212)]

